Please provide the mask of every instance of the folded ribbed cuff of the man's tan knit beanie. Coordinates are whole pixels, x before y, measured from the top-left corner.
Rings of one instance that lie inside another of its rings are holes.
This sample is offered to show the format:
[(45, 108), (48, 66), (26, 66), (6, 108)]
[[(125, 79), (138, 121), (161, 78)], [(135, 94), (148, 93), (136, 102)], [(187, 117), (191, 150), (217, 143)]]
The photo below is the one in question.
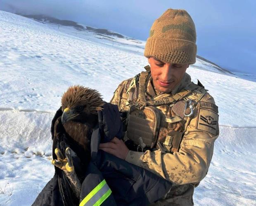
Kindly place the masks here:
[(182, 39), (149, 37), (146, 42), (144, 56), (153, 56), (166, 63), (196, 62), (197, 45)]

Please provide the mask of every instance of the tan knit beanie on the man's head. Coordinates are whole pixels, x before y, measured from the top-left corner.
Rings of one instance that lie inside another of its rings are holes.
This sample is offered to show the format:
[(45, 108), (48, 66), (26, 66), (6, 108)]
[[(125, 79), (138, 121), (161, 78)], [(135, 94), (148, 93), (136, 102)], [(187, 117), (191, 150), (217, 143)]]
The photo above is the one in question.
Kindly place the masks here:
[(196, 62), (196, 29), (191, 16), (180, 9), (167, 9), (154, 21), (144, 55), (167, 63)]

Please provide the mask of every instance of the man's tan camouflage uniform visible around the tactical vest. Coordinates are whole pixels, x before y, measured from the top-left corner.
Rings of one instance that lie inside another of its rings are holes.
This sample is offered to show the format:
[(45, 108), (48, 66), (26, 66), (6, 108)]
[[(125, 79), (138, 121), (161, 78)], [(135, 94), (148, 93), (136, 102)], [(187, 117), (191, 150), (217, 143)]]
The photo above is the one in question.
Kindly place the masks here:
[[(111, 99), (111, 103), (119, 106), (119, 110), (129, 110), (128, 95), (126, 91), (128, 84), (132, 78), (125, 80), (119, 84)], [(195, 84), (191, 82), (190, 75), (187, 73), (183, 77), (180, 84), (173, 89), (168, 95), (173, 96), (185, 87), (193, 88), (189, 99), (197, 100), (205, 91), (199, 87), (194, 89)], [(167, 98), (168, 98), (167, 95)], [(152, 77), (149, 77), (146, 86), (147, 98), (166, 98), (166, 94), (161, 95), (154, 90), (152, 85)], [(134, 100), (135, 102), (138, 100)], [(203, 103), (201, 103), (203, 102)], [(184, 103), (182, 105), (184, 110)], [(173, 131), (183, 131), (184, 136), (180, 142), (180, 147), (176, 152), (162, 152), (161, 150), (145, 152), (129, 151), (126, 161), (141, 166), (153, 173), (162, 176), (166, 180), (173, 183), (173, 187), (166, 197), (160, 199), (152, 205), (194, 205), (193, 193), (194, 187), (199, 185), (199, 182), (206, 176), (213, 155), (213, 146), (218, 137), (218, 107), (215, 105), (213, 97), (206, 93), (201, 97), (199, 103), (194, 107), (194, 113), (191, 117), (185, 117), (181, 109), (176, 108), (177, 114), (169, 105), (157, 106), (165, 117), (173, 117), (180, 115), (181, 121), (168, 123), (161, 118), (161, 127)], [(162, 129), (165, 133), (165, 129)], [(159, 136), (161, 139), (161, 137)]]

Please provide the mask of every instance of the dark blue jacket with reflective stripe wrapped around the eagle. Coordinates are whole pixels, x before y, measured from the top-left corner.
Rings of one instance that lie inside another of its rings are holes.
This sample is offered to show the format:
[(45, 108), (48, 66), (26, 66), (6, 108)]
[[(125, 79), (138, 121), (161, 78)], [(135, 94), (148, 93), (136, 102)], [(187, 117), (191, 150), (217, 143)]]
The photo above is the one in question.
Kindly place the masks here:
[[(52, 120), (53, 159), (55, 148), (63, 153), (70, 147), (76, 156), (73, 164), (82, 188), (78, 200), (64, 172), (55, 167), (54, 177), (45, 185), (33, 205), (148, 205), (163, 197), (170, 189), (171, 182), (155, 174), (110, 155), (98, 146), (115, 136), (122, 137), (122, 121), (116, 105), (105, 103), (98, 111), (98, 125), (91, 133), (91, 153), (69, 138), (61, 122), (60, 108)], [(55, 135), (54, 135), (55, 134)]]

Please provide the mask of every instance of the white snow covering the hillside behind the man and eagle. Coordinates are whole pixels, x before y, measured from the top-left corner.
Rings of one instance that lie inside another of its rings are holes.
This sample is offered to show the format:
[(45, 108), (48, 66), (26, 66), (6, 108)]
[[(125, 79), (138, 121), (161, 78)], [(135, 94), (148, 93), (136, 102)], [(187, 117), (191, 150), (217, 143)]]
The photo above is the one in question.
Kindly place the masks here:
[[(0, 35), (0, 205), (31, 205), (54, 173), (50, 124), (64, 91), (81, 84), (109, 101), (147, 65), (145, 42), (2, 11)], [(187, 72), (219, 107), (220, 136), (195, 205), (256, 205), (255, 77), (227, 75), (201, 59)]]

